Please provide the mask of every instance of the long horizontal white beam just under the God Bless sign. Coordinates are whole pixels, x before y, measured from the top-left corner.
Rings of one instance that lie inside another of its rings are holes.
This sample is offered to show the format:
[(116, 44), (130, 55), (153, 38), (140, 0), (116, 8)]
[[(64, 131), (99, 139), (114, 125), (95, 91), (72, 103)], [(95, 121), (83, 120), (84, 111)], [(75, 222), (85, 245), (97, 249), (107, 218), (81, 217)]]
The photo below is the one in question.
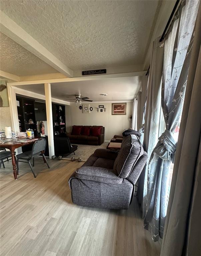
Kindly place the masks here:
[(72, 77), (72, 78), (58, 78), (58, 79), (46, 79), (46, 80), (36, 80), (36, 81), (21, 81), (21, 82), (11, 82), (9, 85), (30, 85), (30, 84), (45, 84), (45, 83), (63, 83), (63, 82), (75, 82), (75, 81), (89, 81), (89, 80), (100, 80), (100, 79), (110, 79), (110, 78), (123, 78), (132, 76), (142, 76), (146, 71), (121, 73), (121, 74), (110, 74), (110, 75), (96, 75), (96, 76), (83, 76), (83, 77)]

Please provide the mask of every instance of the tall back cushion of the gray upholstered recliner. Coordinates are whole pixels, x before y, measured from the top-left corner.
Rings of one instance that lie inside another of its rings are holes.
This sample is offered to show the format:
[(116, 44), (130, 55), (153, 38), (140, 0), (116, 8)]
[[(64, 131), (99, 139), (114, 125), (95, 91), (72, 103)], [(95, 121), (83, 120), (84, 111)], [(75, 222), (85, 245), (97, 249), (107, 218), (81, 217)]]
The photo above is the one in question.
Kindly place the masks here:
[(119, 177), (127, 178), (143, 153), (144, 150), (137, 135), (130, 134), (125, 137), (114, 162), (114, 169), (117, 170)]

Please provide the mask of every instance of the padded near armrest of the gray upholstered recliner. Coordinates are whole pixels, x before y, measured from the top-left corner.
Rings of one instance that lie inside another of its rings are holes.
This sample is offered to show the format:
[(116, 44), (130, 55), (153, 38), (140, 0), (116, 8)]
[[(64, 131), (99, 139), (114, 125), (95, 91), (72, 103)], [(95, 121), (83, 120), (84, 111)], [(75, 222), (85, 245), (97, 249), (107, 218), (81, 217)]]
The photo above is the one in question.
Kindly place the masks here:
[(118, 177), (115, 172), (115, 170), (101, 167), (82, 166), (75, 171), (75, 177), (80, 180), (92, 180), (109, 184), (121, 184), (123, 178)]

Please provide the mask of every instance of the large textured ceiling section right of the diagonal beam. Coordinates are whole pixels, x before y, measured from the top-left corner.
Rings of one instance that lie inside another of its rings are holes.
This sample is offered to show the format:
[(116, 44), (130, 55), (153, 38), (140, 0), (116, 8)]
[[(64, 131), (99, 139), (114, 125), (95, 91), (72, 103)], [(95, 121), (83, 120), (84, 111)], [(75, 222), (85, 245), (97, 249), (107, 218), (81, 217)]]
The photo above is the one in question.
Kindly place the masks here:
[(72, 70), (142, 64), (158, 10), (158, 0), (0, 4), (5, 14)]

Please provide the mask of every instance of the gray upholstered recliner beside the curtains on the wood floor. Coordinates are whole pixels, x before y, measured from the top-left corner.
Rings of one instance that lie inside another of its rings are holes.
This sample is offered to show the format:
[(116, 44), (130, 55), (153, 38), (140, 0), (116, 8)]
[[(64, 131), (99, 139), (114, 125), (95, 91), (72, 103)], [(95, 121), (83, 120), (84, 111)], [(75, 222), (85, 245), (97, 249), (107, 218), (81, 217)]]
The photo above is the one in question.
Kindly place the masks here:
[(128, 209), (146, 160), (147, 153), (136, 135), (124, 137), (119, 153), (97, 149), (69, 179), (73, 203)]

